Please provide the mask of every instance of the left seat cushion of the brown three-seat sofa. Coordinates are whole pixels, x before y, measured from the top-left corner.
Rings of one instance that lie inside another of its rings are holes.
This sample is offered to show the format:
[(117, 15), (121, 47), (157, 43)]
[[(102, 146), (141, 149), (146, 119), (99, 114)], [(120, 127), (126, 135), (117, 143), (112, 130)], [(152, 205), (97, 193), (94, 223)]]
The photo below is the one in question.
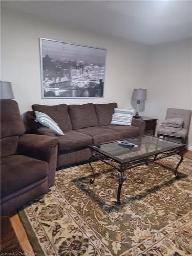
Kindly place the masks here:
[(92, 137), (76, 131), (66, 132), (63, 136), (57, 136), (59, 139), (59, 151), (72, 150), (92, 144)]

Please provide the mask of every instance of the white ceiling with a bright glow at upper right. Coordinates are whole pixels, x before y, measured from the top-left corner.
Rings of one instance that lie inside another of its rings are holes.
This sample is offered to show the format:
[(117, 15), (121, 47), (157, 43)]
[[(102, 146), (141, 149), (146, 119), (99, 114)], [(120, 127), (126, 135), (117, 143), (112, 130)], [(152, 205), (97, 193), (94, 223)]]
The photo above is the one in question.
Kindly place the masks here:
[(192, 37), (191, 1), (2, 1), (65, 26), (153, 45)]

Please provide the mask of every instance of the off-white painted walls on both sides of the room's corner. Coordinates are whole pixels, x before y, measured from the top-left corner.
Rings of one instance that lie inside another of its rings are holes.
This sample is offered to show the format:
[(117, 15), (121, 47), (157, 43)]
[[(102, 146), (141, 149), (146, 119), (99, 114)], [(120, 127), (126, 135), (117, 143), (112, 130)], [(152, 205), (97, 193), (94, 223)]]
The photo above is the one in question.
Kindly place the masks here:
[[(164, 120), (168, 107), (191, 109), (191, 40), (145, 46), (69, 29), (2, 9), (2, 80), (11, 81), (22, 113), (32, 104), (117, 102), (131, 106), (133, 88), (147, 88), (144, 114)], [(104, 98), (41, 99), (39, 37), (107, 49)], [(143, 113), (141, 113), (143, 114)], [(189, 144), (192, 145), (192, 125)]]

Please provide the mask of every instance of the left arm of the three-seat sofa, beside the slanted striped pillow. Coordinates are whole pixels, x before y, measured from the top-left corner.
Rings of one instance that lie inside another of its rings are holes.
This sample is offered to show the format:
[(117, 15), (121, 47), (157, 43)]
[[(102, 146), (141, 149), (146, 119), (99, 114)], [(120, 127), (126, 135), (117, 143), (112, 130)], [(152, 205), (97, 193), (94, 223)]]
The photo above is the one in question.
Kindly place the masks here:
[(35, 116), (33, 111), (28, 111), (26, 113), (26, 123), (27, 123), (27, 126), (29, 127), (30, 133), (56, 137), (56, 134), (54, 133), (53, 130), (35, 121)]

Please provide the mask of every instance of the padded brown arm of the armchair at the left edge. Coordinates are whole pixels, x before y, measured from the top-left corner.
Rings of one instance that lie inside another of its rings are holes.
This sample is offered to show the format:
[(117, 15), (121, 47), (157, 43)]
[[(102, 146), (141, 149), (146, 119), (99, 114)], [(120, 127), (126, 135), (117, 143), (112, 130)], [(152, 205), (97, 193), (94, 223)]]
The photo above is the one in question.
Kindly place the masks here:
[(49, 162), (53, 148), (57, 146), (58, 138), (37, 134), (24, 134), (19, 137), (18, 153)]

